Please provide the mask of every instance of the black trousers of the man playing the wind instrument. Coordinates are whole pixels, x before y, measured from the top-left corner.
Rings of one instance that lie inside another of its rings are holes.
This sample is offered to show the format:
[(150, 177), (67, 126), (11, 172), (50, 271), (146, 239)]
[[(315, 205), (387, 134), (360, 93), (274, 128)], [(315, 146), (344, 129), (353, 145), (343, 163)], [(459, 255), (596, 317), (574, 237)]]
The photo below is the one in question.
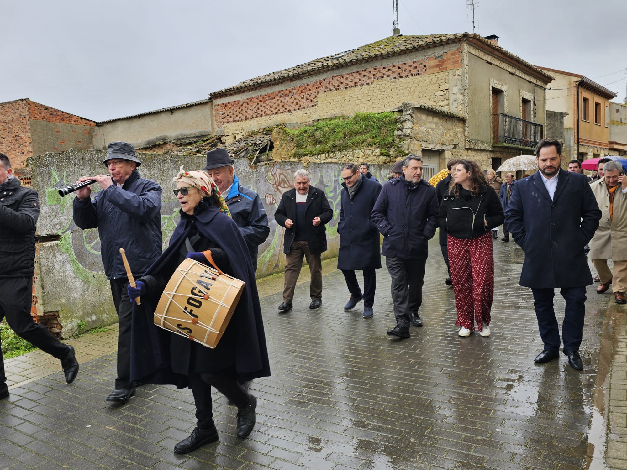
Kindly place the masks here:
[(111, 279), (111, 294), (118, 315), (118, 351), (117, 377), (115, 389), (129, 390), (133, 388), (130, 381), (130, 325), (133, 315), (133, 304), (129, 298), (127, 286), (129, 279)]

